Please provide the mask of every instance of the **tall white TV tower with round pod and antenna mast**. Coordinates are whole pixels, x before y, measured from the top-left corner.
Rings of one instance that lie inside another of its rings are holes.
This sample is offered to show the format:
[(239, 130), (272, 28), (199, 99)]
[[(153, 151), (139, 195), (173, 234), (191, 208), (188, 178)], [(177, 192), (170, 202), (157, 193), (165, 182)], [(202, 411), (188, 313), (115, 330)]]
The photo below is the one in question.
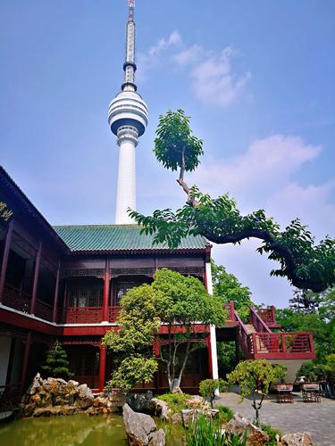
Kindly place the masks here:
[(116, 196), (115, 224), (134, 223), (127, 209), (136, 209), (136, 169), (135, 149), (138, 136), (147, 127), (147, 103), (137, 93), (135, 83), (135, 0), (129, 0), (129, 16), (126, 32), (126, 57), (123, 63), (124, 80), (121, 92), (109, 105), (108, 123), (117, 136), (119, 149), (119, 169)]

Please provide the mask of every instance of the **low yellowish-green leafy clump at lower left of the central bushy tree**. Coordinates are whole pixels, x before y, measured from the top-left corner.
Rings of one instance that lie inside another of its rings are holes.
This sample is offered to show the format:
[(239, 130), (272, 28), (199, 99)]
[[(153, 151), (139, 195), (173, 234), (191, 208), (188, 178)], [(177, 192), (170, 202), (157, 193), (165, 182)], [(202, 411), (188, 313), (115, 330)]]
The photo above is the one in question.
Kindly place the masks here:
[(106, 389), (112, 391), (113, 388), (121, 389), (127, 394), (135, 384), (149, 383), (157, 370), (157, 361), (153, 358), (143, 356), (130, 356), (121, 361), (112, 375), (111, 381), (106, 385)]

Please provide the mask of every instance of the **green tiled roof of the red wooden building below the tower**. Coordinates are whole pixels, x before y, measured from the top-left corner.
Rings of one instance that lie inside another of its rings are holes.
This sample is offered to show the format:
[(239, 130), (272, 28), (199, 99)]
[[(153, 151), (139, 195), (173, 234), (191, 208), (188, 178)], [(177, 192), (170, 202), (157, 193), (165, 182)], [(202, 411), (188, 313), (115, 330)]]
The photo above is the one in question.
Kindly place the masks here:
[[(136, 225), (54, 226), (72, 252), (169, 250), (153, 244), (153, 235), (140, 234)], [(201, 235), (185, 237), (178, 249), (204, 249), (209, 243)]]

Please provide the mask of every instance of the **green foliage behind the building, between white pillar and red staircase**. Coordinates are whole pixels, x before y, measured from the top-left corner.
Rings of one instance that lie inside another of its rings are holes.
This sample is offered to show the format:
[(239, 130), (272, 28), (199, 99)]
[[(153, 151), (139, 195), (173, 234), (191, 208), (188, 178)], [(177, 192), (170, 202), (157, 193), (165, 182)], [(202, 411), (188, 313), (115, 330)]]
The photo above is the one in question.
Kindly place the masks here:
[(222, 299), (223, 303), (234, 301), (235, 310), (239, 317), (247, 321), (250, 317), (250, 307), (255, 307), (251, 300), (251, 291), (247, 286), (242, 286), (239, 279), (233, 274), (227, 273), (222, 265), (216, 265), (212, 260), (213, 293), (215, 297)]

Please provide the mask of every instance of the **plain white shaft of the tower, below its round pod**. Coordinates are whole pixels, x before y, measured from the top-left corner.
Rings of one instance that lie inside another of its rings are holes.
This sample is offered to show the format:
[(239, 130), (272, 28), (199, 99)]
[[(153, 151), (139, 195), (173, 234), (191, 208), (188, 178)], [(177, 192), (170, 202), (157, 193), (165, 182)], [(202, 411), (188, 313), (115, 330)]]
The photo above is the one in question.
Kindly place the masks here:
[(118, 129), (119, 170), (116, 195), (115, 224), (133, 224), (129, 209), (136, 209), (136, 154), (138, 130), (124, 126)]

